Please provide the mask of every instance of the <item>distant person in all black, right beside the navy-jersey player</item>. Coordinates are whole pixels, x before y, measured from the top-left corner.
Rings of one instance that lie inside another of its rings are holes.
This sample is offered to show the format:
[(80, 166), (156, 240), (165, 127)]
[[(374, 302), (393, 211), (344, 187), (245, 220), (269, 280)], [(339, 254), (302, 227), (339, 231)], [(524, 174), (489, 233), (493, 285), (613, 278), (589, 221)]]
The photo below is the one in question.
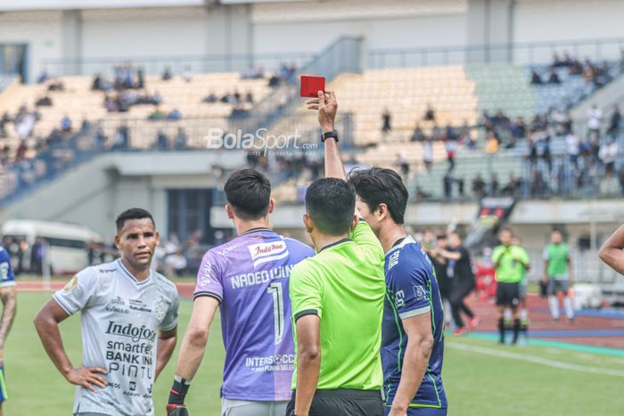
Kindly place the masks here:
[(453, 320), (456, 324), (455, 335), (463, 335), (467, 330), (464, 327), (461, 312), (470, 318), (471, 330), (479, 324), (479, 318), (464, 303), (464, 298), (470, 295), (475, 286), (470, 254), (462, 245), (462, 239), (457, 232), (449, 234), (447, 249), (440, 248), (436, 251), (439, 256), (447, 259), (447, 276), (452, 281), (450, 302)]

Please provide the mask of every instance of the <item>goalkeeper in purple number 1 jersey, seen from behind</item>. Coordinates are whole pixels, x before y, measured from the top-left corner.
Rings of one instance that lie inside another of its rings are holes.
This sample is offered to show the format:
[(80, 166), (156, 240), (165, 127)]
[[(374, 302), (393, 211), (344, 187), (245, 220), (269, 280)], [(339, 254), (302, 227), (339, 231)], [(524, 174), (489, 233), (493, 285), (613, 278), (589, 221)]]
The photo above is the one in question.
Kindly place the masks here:
[(253, 169), (234, 172), (225, 192), (227, 216), (238, 237), (209, 249), (201, 261), (167, 412), (185, 412), (180, 408), (219, 308), (226, 347), (221, 414), (283, 416), (295, 357), (289, 278), (292, 267), (314, 251), (271, 230), (268, 216), (275, 200), (265, 175)]

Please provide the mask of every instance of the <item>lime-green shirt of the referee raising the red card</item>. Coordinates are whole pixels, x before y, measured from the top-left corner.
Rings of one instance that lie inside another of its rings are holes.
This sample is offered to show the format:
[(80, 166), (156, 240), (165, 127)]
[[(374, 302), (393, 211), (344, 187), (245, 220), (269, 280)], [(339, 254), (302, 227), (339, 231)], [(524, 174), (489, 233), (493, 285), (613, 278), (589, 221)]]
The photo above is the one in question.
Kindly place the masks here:
[[(289, 292), (297, 351), (297, 319), (320, 318), (321, 371), (316, 388), (382, 387), (383, 249), (360, 220), (344, 239), (295, 265)], [(297, 387), (297, 363), (292, 388)]]

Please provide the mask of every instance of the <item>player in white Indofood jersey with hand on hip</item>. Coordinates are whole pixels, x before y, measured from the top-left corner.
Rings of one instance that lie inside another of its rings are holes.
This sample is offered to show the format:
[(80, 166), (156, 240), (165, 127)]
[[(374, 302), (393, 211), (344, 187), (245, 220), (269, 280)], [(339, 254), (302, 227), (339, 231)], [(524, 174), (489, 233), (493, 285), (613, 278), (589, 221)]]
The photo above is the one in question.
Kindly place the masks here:
[[(54, 293), (35, 326), (56, 368), (75, 384), (75, 415), (152, 416), (152, 387), (176, 347), (176, 285), (150, 270), (159, 234), (149, 212), (117, 218), (121, 257), (87, 267)], [(82, 365), (74, 367), (58, 323), (81, 312)]]

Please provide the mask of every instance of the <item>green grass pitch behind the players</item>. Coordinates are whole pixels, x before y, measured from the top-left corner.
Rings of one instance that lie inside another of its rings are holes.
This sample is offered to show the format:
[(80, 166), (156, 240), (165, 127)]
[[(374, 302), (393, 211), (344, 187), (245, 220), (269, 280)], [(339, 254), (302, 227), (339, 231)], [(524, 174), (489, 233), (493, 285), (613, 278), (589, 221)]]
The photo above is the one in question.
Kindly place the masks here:
[[(46, 293), (18, 295), (18, 316), (4, 348), (10, 397), (3, 406), (5, 415), (71, 413), (74, 387), (53, 367), (32, 325), (37, 310), (49, 297)], [(180, 336), (192, 306), (190, 301), (182, 302)], [(79, 364), (78, 316), (63, 322), (62, 335), (72, 362)], [(513, 357), (506, 356), (507, 353), (513, 353)], [(451, 416), (624, 414), (624, 356), (554, 347), (499, 347), (485, 339), (447, 337), (444, 358), (444, 384)], [(218, 416), (223, 359), (216, 322), (186, 401), (193, 415)], [(156, 383), (157, 414), (164, 414), (176, 360), (177, 350)], [(610, 373), (603, 374), (602, 370)]]

